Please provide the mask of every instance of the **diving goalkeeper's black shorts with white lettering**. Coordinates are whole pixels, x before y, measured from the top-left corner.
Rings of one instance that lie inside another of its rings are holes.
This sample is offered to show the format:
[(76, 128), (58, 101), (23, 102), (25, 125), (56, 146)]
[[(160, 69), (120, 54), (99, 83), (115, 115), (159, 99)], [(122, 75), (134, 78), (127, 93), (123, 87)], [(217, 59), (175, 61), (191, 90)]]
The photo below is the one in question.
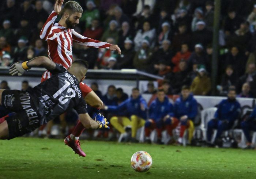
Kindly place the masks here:
[(39, 115), (32, 97), (27, 92), (19, 90), (4, 90), (2, 105), (15, 115), (5, 118), (8, 123), (9, 139), (23, 136), (40, 126)]

